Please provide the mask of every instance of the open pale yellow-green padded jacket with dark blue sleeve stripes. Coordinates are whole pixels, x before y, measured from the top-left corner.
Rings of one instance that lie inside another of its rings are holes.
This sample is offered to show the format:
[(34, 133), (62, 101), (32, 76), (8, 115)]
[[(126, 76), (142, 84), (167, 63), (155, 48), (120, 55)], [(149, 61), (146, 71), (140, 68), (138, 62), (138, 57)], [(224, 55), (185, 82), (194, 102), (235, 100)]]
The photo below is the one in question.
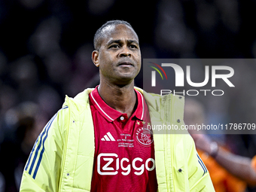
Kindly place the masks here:
[[(184, 97), (143, 93), (151, 124), (181, 127)], [(94, 161), (94, 128), (89, 94), (66, 96), (62, 109), (47, 123), (26, 163), (20, 191), (90, 191)], [(215, 191), (209, 172), (189, 134), (154, 130), (158, 191)]]

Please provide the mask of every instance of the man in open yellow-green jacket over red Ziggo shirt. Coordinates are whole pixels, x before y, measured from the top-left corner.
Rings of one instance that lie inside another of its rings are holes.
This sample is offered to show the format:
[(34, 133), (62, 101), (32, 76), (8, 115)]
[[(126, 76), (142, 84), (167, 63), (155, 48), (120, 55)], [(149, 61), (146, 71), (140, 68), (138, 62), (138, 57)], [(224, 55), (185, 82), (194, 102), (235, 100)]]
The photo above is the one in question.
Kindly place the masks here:
[(20, 190), (214, 191), (189, 135), (146, 128), (183, 123), (184, 99), (134, 88), (141, 53), (132, 26), (105, 23), (94, 46), (99, 87), (66, 97), (35, 142)]

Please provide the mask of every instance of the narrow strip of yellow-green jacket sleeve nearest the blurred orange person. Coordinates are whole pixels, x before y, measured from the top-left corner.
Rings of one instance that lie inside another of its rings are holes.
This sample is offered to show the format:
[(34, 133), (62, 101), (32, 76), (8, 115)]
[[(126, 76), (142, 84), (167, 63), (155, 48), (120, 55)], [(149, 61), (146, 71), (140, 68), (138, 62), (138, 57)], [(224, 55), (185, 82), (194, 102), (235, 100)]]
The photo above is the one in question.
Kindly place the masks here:
[(187, 167), (189, 186), (191, 192), (212, 192), (215, 191), (212, 180), (210, 178), (209, 172), (206, 169), (203, 160), (197, 154), (196, 147), (194, 145), (194, 140), (190, 135), (187, 136), (190, 142), (190, 151), (187, 157)]

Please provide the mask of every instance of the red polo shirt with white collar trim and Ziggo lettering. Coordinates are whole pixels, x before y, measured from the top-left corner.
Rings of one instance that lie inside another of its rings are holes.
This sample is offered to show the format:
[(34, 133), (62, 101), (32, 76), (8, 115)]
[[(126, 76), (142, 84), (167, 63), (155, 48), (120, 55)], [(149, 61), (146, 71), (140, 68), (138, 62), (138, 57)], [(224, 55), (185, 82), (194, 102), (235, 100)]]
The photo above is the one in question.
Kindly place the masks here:
[(97, 87), (90, 93), (95, 131), (95, 160), (91, 191), (157, 191), (154, 141), (148, 107), (135, 90), (136, 111), (127, 114), (109, 107)]

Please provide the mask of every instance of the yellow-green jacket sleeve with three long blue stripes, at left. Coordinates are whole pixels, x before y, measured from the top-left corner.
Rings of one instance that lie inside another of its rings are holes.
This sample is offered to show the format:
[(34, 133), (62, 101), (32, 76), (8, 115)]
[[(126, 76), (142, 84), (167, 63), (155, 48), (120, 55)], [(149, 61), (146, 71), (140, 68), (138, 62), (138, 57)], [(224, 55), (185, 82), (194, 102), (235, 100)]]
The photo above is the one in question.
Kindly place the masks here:
[(23, 171), (20, 191), (58, 191), (66, 108), (59, 110), (38, 136)]

